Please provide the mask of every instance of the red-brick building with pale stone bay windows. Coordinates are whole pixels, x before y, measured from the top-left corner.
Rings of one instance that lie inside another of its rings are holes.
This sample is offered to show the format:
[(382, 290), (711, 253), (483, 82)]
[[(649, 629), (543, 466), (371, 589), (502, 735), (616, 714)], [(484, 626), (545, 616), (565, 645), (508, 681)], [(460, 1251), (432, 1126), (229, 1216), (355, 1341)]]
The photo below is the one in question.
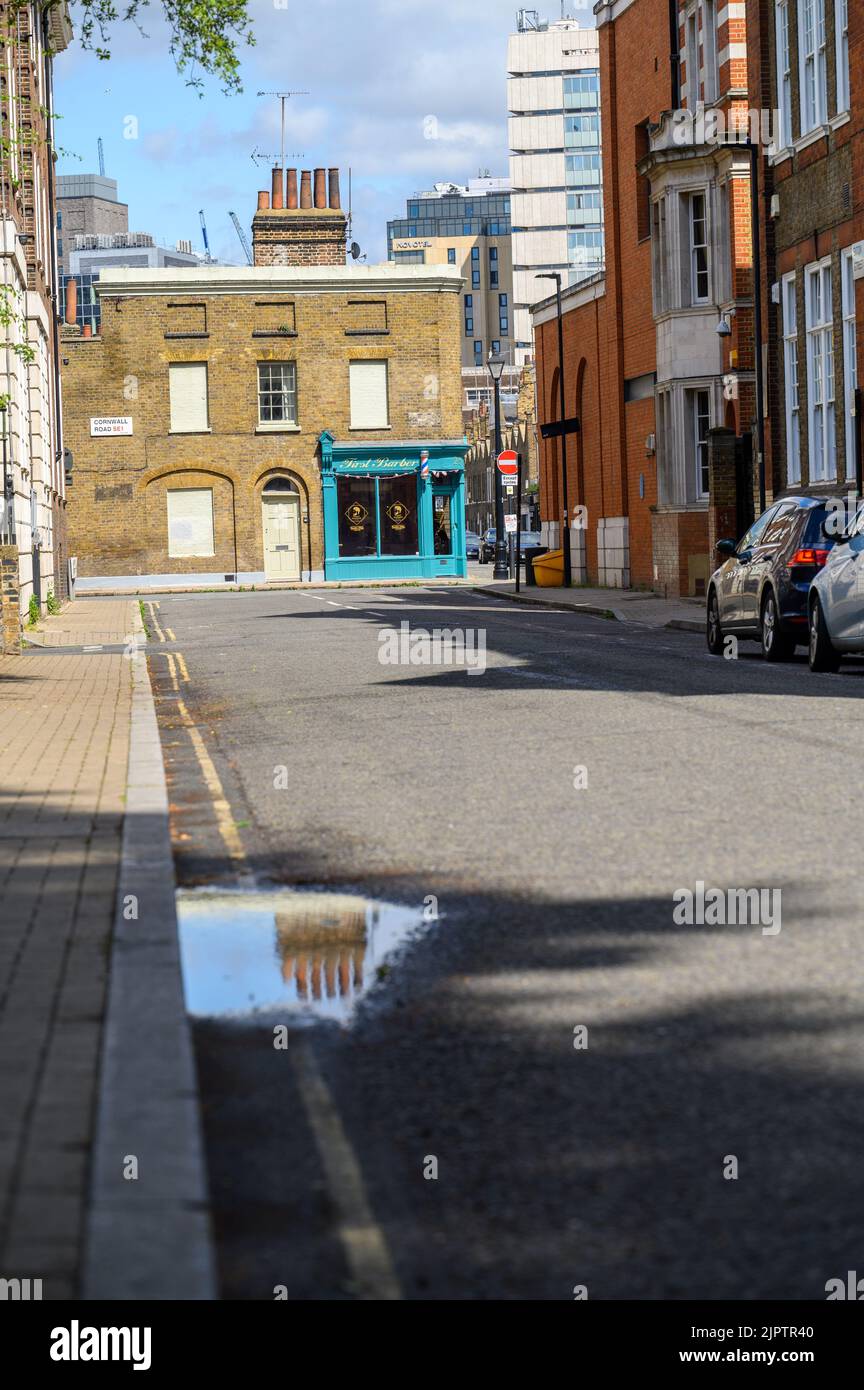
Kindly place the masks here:
[[(693, 595), (713, 567), (711, 431), (746, 461), (756, 404), (743, 11), (682, 0), (672, 44), (668, 0), (595, 13), (606, 272), (564, 292), (568, 502), (588, 509), (574, 575)], [(556, 317), (554, 299), (535, 307), (542, 423), (558, 417)], [(540, 493), (558, 543), (558, 441)]]

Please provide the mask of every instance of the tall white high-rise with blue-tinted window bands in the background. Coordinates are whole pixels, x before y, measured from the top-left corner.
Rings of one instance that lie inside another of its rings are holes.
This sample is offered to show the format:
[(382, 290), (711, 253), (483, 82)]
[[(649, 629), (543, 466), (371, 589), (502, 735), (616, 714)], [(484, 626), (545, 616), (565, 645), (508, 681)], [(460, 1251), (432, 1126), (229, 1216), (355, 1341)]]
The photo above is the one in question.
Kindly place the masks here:
[(531, 306), (603, 268), (597, 32), (521, 10), (507, 51), (515, 360), (532, 354)]

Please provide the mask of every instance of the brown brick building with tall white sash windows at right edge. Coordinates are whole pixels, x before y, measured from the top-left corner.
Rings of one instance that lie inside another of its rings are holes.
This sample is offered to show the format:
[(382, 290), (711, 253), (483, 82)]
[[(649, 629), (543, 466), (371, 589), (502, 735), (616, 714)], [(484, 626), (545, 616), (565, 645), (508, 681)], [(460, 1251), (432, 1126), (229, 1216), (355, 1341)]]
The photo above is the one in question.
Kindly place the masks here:
[(864, 313), (864, 10), (747, 4), (760, 149), (768, 493), (856, 488), (857, 322)]

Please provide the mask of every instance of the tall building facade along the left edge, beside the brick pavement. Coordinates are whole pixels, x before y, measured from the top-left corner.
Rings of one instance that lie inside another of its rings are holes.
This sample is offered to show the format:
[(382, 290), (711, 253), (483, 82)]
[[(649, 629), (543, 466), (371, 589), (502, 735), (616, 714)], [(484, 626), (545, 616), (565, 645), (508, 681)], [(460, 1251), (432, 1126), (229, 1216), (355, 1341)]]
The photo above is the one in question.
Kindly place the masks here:
[(0, 430), (4, 646), (18, 614), (67, 591), (54, 240), (53, 58), (65, 4), (0, 4)]

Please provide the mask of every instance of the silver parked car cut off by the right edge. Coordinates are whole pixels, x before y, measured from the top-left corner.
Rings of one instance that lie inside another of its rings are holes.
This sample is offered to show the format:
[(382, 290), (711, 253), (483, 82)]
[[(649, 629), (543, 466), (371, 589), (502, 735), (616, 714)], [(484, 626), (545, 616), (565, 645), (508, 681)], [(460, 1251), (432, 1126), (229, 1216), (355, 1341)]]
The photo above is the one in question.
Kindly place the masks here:
[(864, 509), (813, 581), (808, 619), (811, 671), (836, 671), (845, 655), (864, 652)]

